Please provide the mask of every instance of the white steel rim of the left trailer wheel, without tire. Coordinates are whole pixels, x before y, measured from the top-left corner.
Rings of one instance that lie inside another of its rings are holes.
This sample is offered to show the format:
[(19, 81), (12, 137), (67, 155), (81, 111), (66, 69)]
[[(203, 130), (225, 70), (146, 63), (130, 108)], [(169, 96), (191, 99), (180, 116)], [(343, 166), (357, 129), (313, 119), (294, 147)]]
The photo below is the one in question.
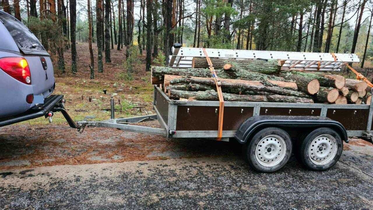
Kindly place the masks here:
[(258, 142), (255, 157), (265, 167), (278, 165), (286, 155), (285, 140), (278, 135), (268, 135)]

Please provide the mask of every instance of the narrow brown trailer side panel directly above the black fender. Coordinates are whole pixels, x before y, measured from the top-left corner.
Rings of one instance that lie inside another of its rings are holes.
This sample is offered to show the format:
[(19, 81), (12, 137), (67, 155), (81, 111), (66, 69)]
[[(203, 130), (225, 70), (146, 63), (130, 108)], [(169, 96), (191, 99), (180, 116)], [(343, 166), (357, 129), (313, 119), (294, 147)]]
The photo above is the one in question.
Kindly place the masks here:
[(260, 115), (320, 116), (321, 108), (261, 107)]

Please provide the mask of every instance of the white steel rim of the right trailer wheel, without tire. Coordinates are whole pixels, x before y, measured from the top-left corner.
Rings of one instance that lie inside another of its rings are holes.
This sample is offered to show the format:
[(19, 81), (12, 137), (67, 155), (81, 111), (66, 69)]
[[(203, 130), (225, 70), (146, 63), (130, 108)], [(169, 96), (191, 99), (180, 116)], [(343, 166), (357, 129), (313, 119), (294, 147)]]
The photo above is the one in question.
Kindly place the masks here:
[(323, 134), (314, 138), (310, 143), (308, 157), (312, 163), (322, 166), (334, 159), (337, 150), (337, 140), (331, 135)]

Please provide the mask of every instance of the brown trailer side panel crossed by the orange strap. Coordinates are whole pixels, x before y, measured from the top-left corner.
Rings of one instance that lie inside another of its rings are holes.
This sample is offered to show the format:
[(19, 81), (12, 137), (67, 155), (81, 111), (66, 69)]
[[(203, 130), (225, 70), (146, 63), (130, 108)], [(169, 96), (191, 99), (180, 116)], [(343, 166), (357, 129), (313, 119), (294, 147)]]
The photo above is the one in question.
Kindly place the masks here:
[[(224, 107), (223, 130), (237, 130), (253, 111), (253, 107)], [(217, 130), (219, 106), (178, 106), (177, 114), (176, 130)]]

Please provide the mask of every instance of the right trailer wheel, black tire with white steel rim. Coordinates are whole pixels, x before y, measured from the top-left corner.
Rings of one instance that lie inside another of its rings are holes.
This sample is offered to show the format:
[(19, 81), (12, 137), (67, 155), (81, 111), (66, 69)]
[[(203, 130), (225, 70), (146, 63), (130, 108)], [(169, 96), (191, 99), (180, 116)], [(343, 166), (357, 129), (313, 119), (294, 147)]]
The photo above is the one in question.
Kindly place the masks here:
[(327, 170), (342, 155), (341, 136), (330, 128), (322, 127), (308, 134), (300, 147), (301, 162), (311, 170)]

